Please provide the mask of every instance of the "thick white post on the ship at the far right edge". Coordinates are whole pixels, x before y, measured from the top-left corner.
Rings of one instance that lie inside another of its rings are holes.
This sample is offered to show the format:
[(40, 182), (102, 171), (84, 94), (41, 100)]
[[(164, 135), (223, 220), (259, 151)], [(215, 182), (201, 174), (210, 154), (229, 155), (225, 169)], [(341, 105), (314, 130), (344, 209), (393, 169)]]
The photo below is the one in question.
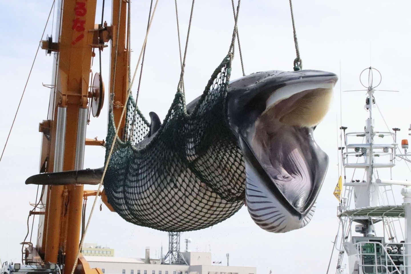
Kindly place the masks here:
[(401, 194), (404, 196), (405, 211), (405, 253), (404, 253), (404, 266), (405, 273), (411, 274), (411, 187), (404, 187), (401, 189)]

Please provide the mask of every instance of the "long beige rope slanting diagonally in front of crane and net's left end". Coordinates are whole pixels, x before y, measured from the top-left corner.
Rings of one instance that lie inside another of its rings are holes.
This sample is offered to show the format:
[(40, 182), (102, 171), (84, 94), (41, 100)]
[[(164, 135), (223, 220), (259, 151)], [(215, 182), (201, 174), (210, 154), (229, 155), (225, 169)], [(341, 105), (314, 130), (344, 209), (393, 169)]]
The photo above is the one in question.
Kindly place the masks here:
[[(120, 0), (119, 13), (120, 13), (120, 10), (121, 10), (121, 2), (122, 2), (122, 1)], [(118, 122), (118, 126), (117, 126), (117, 128), (116, 128), (116, 130), (115, 130), (115, 134), (114, 134), (114, 136), (113, 136), (113, 142), (111, 143), (110, 152), (109, 152), (109, 155), (107, 156), (107, 161), (106, 161), (106, 163), (104, 164), (104, 170), (103, 170), (102, 179), (100, 180), (99, 186), (98, 186), (98, 188), (97, 188), (97, 194), (96, 194), (96, 197), (94, 198), (93, 205), (92, 205), (91, 211), (90, 211), (90, 215), (88, 216), (87, 225), (85, 226), (84, 234), (83, 234), (83, 236), (81, 237), (81, 241), (80, 241), (80, 244), (79, 244), (79, 252), (77, 253), (76, 260), (74, 261), (74, 265), (73, 265), (73, 269), (72, 269), (71, 274), (74, 274), (74, 270), (75, 270), (76, 267), (77, 267), (77, 262), (78, 262), (79, 257), (80, 257), (80, 247), (83, 246), (84, 238), (85, 238), (85, 235), (87, 234), (88, 226), (90, 225), (90, 220), (91, 220), (92, 214), (93, 214), (93, 212), (94, 212), (94, 208), (95, 208), (96, 203), (97, 203), (97, 199), (98, 199), (98, 196), (99, 196), (99, 193), (100, 193), (100, 189), (101, 189), (101, 187), (102, 187), (102, 185), (103, 185), (104, 177), (106, 176), (107, 167), (109, 166), (111, 154), (113, 153), (113, 149), (114, 149), (114, 145), (115, 145), (115, 139), (118, 138), (117, 136), (118, 136), (118, 132), (119, 132), (119, 130), (120, 130), (121, 121), (123, 120), (124, 114), (125, 114), (126, 109), (127, 109), (127, 103), (128, 103), (129, 98), (130, 98), (131, 88), (132, 88), (133, 83), (134, 83), (134, 78), (136, 77), (137, 68), (138, 68), (139, 63), (140, 63), (140, 60), (141, 60), (141, 55), (143, 54), (144, 46), (145, 46), (145, 44), (147, 43), (148, 31), (150, 30), (150, 26), (151, 26), (152, 20), (153, 20), (153, 18), (154, 18), (155, 10), (156, 10), (156, 8), (157, 8), (157, 3), (158, 3), (158, 0), (156, 0), (156, 2), (155, 2), (155, 6), (154, 6), (154, 9), (153, 9), (153, 14), (152, 14), (152, 16), (151, 16), (150, 24), (149, 24), (148, 29), (147, 29), (147, 32), (146, 32), (146, 34), (145, 34), (144, 43), (143, 43), (143, 46), (142, 46), (142, 48), (141, 48), (141, 53), (140, 53), (139, 61), (137, 62), (137, 66), (136, 66), (136, 70), (134, 71), (134, 76), (133, 76), (132, 82), (131, 82), (131, 84), (130, 84), (130, 86), (129, 86), (129, 89), (127, 90), (126, 101), (125, 101), (125, 104), (124, 104), (124, 106), (123, 106), (123, 110), (122, 110), (122, 112), (121, 112), (121, 116), (120, 116), (120, 120), (119, 120), (119, 122)], [(120, 20), (120, 16), (119, 16), (118, 18), (119, 18), (119, 20)], [(118, 32), (117, 32), (117, 33), (118, 33)], [(118, 39), (118, 36), (117, 36), (117, 39)], [(116, 53), (117, 53), (117, 52), (116, 52)], [(116, 54), (116, 56), (117, 56), (117, 54)], [(115, 58), (115, 59), (117, 59), (117, 58)], [(115, 66), (116, 66), (116, 64), (114, 64), (114, 68), (115, 68)], [(113, 81), (113, 85), (114, 85), (114, 81)]]

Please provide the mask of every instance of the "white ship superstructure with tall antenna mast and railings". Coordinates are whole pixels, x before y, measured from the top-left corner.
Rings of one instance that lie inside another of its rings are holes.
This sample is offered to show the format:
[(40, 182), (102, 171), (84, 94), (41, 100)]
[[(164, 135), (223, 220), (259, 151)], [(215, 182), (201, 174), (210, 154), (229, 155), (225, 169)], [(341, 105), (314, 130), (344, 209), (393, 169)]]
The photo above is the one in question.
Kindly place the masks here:
[[(369, 74), (368, 86), (364, 85), (369, 117), (364, 131), (340, 128), (345, 190), (337, 185), (336, 192), (341, 191), (342, 195), (337, 212), (336, 273), (346, 273), (348, 269), (349, 274), (411, 274), (411, 181), (395, 180), (399, 176), (393, 174), (396, 161), (410, 162), (407, 156), (411, 154), (406, 152), (407, 140), (402, 140), (401, 147), (397, 143), (400, 129), (374, 129), (374, 92), (379, 84), (373, 85), (373, 71), (379, 71), (371, 67), (365, 71)], [(403, 173), (401, 178), (409, 175)]]

